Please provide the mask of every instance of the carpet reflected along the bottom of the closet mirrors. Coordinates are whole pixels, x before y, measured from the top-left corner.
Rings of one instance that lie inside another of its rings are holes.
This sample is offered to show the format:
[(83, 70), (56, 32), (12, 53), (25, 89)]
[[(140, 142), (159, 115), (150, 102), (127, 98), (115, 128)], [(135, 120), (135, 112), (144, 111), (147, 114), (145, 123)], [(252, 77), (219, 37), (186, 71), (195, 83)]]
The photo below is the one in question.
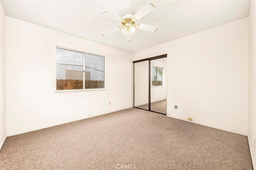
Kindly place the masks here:
[[(136, 106), (136, 107), (148, 110), (148, 104), (144, 104), (144, 105)], [(167, 111), (166, 111), (166, 99), (151, 103), (150, 104), (150, 110), (166, 114), (167, 113)]]

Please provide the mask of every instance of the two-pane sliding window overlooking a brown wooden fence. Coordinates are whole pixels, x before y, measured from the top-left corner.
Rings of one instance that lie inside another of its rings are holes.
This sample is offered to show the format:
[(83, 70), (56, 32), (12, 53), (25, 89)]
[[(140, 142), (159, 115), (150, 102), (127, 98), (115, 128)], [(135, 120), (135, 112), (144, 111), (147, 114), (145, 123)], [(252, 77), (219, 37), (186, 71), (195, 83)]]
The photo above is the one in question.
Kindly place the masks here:
[(104, 88), (104, 57), (56, 48), (56, 90)]

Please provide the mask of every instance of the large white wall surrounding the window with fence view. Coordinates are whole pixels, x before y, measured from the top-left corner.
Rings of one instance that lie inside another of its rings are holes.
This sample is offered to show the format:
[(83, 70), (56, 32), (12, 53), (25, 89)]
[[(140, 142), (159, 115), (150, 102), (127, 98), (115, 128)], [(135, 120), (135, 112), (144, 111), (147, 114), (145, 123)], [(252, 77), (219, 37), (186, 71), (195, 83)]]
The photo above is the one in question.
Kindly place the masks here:
[[(8, 136), (132, 107), (130, 52), (10, 17), (6, 30)], [(108, 90), (55, 93), (56, 45), (104, 55)]]

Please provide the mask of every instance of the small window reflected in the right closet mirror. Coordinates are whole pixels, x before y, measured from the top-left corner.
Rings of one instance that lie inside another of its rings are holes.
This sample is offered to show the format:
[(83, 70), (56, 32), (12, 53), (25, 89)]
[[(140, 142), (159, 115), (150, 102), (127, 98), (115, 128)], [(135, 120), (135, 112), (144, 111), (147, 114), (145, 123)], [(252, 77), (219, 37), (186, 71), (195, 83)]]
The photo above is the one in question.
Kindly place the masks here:
[(163, 85), (163, 68), (151, 66), (151, 86)]

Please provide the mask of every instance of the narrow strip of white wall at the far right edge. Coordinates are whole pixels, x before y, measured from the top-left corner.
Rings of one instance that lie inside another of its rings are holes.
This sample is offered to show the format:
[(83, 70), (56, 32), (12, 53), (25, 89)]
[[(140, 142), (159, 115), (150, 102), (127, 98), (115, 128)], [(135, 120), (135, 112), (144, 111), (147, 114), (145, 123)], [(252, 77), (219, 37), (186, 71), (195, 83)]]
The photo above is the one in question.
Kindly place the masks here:
[(256, 1), (250, 3), (249, 13), (249, 89), (248, 89), (248, 141), (252, 162), (256, 169)]

